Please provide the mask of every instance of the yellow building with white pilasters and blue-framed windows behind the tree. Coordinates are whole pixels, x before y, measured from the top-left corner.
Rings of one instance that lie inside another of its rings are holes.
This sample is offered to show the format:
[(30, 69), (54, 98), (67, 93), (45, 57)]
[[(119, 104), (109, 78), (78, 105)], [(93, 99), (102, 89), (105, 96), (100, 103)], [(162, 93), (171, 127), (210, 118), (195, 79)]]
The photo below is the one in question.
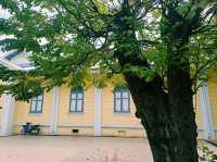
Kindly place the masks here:
[[(0, 63), (10, 68), (30, 68), (26, 58), (26, 53), (12, 53)], [(199, 138), (217, 138), (215, 78), (194, 97)], [(145, 137), (145, 130), (135, 116), (130, 92), (125, 87), (54, 87), (29, 103), (2, 95), (0, 107), (0, 136), (21, 134), (22, 125), (31, 122), (40, 125), (42, 135)]]

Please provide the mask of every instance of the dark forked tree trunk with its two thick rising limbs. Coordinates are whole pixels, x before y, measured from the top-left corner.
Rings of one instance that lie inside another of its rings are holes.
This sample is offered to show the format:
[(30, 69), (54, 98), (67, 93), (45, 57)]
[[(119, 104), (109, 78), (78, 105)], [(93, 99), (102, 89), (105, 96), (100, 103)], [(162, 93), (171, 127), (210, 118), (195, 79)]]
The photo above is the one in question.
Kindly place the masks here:
[[(140, 59), (141, 49), (133, 24), (126, 21), (126, 16), (132, 17), (127, 3), (123, 12), (116, 15), (117, 43), (114, 54), (124, 68), (137, 107), (136, 115), (141, 119), (146, 130), (154, 162), (197, 162), (192, 83), (190, 65), (184, 59), (188, 49), (183, 49), (188, 39), (179, 37), (182, 35), (174, 39), (177, 33), (173, 33), (173, 26), (163, 34), (166, 35), (165, 43), (168, 47), (168, 91), (165, 92), (163, 80), (157, 74), (152, 82), (146, 83), (133, 72), (126, 71), (126, 66), (150, 68), (148, 61)], [(176, 32), (179, 29), (181, 26)]]

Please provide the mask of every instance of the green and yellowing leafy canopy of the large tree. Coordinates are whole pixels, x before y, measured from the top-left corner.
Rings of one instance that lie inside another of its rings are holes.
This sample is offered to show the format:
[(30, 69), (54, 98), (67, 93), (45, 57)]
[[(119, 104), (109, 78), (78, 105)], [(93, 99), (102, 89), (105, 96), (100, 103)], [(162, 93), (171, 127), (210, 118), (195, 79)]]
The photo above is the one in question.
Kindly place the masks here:
[[(166, 91), (165, 41), (170, 37), (163, 32), (173, 29), (171, 24), (179, 26), (174, 24), (177, 18), (188, 25), (191, 37), (186, 45), (191, 52), (183, 59), (191, 64), (195, 89), (196, 80), (205, 79), (216, 65), (215, 0), (1, 0), (0, 5), (11, 14), (0, 18), (0, 34), (10, 36), (0, 40), (1, 48), (31, 53), (36, 66), (29, 72), (0, 67), (0, 90), (20, 100), (62, 84), (102, 86), (105, 78), (128, 72), (144, 82), (159, 76)], [(127, 37), (120, 45), (128, 35), (135, 39)], [(141, 52), (123, 51), (123, 46)], [(115, 51), (129, 61), (120, 64)], [(149, 65), (133, 62), (135, 58)]]

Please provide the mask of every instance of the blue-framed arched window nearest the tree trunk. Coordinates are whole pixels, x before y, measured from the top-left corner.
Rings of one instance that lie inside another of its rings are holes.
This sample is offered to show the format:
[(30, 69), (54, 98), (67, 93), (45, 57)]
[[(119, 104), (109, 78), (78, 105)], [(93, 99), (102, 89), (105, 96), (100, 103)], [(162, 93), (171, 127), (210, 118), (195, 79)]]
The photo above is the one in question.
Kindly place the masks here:
[(118, 87), (114, 89), (114, 107), (115, 112), (130, 112), (130, 97), (128, 88)]

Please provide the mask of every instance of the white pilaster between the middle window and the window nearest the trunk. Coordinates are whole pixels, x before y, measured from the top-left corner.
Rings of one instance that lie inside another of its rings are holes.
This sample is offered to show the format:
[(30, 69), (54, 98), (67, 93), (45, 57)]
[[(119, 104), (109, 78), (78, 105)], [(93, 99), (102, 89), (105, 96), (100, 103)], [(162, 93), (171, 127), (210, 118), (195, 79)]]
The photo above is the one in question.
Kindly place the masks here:
[(94, 136), (101, 136), (101, 107), (102, 107), (102, 89), (94, 88)]

